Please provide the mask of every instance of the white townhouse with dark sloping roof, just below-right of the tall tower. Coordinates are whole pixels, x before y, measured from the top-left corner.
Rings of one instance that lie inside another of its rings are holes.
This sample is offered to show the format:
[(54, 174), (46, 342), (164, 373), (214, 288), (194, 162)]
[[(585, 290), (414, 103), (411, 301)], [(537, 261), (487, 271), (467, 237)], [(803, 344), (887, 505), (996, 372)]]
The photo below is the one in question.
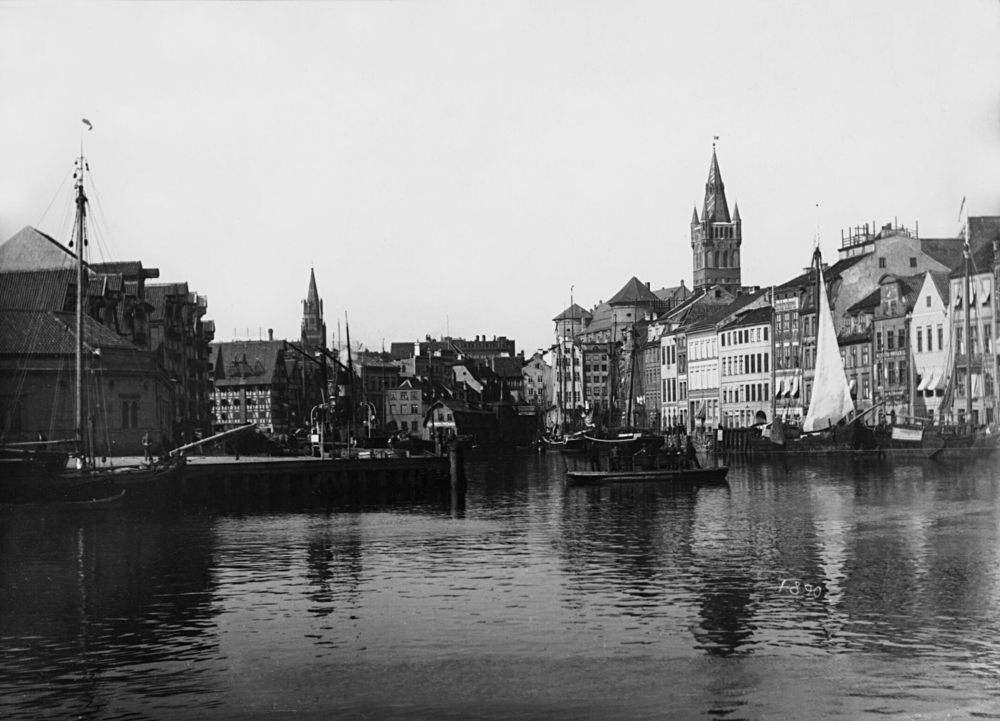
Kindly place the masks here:
[(774, 417), (774, 308), (741, 313), (719, 328), (720, 415), (726, 428)]

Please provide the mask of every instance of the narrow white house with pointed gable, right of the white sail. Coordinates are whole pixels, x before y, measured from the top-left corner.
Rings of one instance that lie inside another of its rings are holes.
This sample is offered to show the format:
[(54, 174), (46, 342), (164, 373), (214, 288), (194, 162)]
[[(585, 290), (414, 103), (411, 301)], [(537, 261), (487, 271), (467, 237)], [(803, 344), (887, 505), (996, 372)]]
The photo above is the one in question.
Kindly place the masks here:
[(948, 383), (951, 345), (950, 286), (945, 273), (927, 272), (910, 315), (910, 353), (913, 357), (914, 393), (911, 414), (939, 422), (941, 402)]

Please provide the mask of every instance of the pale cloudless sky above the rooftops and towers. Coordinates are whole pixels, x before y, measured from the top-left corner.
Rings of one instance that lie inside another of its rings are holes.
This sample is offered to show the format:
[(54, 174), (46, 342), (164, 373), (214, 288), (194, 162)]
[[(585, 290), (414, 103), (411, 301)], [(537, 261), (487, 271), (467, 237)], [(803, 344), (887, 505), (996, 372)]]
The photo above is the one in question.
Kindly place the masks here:
[(530, 355), (571, 299), (690, 287), (713, 142), (747, 285), (1000, 215), (998, 39), (985, 0), (8, 0), (0, 242), (68, 240), (82, 142), (94, 260), (186, 281), (217, 340), (298, 338), (313, 269), (331, 336)]

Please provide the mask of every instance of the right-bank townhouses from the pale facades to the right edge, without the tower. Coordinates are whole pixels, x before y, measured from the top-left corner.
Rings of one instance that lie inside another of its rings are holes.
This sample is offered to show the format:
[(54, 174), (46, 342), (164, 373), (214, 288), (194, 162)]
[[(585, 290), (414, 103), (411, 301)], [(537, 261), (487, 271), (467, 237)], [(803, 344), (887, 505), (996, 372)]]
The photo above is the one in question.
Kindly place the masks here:
[[(967, 256), (962, 238), (928, 241), (891, 227), (867, 236), (867, 252), (842, 251), (824, 270), (856, 411), (874, 411), (872, 423), (995, 423), (1000, 218), (970, 220)], [(714, 313), (695, 312), (703, 293), (654, 321), (647, 343), (659, 346), (661, 426), (739, 427), (775, 415), (801, 423), (814, 381), (816, 293), (809, 269), (735, 299), (720, 294), (728, 305)]]

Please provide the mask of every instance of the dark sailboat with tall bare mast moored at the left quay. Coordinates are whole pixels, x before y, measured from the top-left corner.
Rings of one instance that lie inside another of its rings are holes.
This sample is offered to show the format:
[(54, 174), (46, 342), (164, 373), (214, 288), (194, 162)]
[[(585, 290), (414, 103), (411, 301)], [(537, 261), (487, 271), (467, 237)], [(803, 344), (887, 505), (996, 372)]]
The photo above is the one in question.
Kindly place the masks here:
[[(84, 121), (86, 122), (86, 121)], [(37, 443), (14, 443), (4, 446), (0, 453), (0, 507), (31, 505), (86, 506), (106, 505), (109, 499), (120, 500), (126, 489), (159, 487), (166, 481), (179, 480), (185, 467), (183, 455), (169, 457), (160, 463), (140, 466), (115, 467), (98, 466), (96, 463), (96, 439), (94, 423), (87, 423), (88, 398), (85, 393), (87, 361), (95, 352), (87, 343), (88, 323), (87, 290), (90, 283), (90, 268), (85, 258), (87, 248), (87, 207), (84, 190), (84, 175), (88, 168), (83, 156), (76, 161), (76, 219), (74, 238), (69, 247), (76, 246), (75, 260), (75, 323), (67, 328), (73, 334), (75, 344), (75, 369), (72, 391), (74, 394), (75, 437), (48, 441), (40, 438)], [(86, 348), (86, 353), (85, 353)], [(60, 386), (62, 384), (57, 384)], [(57, 387), (57, 393), (64, 389)], [(95, 414), (96, 415), (96, 414)], [(71, 447), (74, 463), (68, 463), (70, 454), (66, 451), (49, 451), (49, 444)], [(72, 466), (72, 467), (71, 467)]]

